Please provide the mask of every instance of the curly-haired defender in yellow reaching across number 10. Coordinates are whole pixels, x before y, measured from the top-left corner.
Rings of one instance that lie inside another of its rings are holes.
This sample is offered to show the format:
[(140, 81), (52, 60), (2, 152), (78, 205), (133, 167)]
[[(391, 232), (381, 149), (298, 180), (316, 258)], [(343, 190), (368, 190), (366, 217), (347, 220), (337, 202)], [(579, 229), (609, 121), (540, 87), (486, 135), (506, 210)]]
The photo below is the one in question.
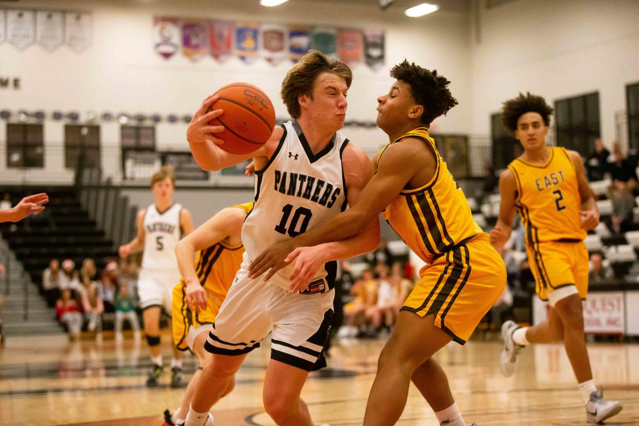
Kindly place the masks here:
[(466, 426), (432, 356), (450, 340), (465, 344), (504, 290), (505, 266), (428, 135), (431, 122), (457, 104), (450, 82), (408, 61), (390, 76), (396, 81), (377, 99), (377, 125), (390, 143), (378, 154), (375, 176), (357, 202), (325, 224), (269, 247), (252, 262), (250, 274), (272, 268), (268, 279), (297, 257), (291, 287), (304, 289), (321, 255), (321, 248), (311, 246), (356, 234), (383, 212), (427, 265), (381, 351), (364, 425), (394, 425), (412, 380), (441, 425)]

